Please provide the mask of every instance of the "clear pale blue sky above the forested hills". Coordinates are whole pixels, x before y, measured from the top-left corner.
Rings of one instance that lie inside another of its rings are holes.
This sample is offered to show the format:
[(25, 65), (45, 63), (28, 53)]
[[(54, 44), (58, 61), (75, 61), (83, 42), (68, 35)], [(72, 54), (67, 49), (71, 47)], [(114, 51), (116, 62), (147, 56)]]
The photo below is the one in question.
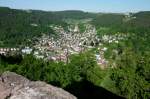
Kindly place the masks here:
[(0, 6), (46, 11), (138, 12), (150, 11), (150, 0), (0, 0)]

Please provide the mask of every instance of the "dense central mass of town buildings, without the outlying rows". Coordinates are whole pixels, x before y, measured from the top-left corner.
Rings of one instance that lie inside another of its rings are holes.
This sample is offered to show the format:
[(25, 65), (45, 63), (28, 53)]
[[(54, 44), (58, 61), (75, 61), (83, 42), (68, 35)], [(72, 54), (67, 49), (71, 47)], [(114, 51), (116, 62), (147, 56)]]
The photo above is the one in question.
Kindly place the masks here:
[(96, 29), (89, 24), (85, 26), (84, 33), (80, 32), (78, 25), (68, 27), (67, 31), (61, 26), (51, 27), (58, 37), (54, 38), (49, 35), (43, 35), (38, 38), (38, 41), (33, 46), (33, 54), (37, 58), (66, 62), (69, 55), (92, 48), (99, 42), (96, 36)]

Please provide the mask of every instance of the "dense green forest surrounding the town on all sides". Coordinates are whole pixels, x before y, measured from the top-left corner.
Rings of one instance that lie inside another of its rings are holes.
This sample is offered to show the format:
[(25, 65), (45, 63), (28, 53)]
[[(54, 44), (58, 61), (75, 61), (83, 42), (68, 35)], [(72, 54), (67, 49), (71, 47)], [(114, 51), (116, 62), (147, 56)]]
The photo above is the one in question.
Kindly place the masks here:
[[(9, 70), (31, 80), (45, 81), (68, 90), (80, 99), (90, 98), (82, 92), (84, 81), (105, 88), (120, 98), (150, 98), (149, 11), (124, 15), (82, 11), (25, 11), (1, 7), (0, 46), (18, 46), (41, 33), (55, 34), (48, 25), (61, 24), (65, 27), (67, 23), (63, 21), (64, 18), (92, 18), (90, 23), (96, 27), (99, 37), (115, 33), (129, 34), (127, 40), (116, 47), (119, 50), (118, 55), (111, 59), (116, 63), (115, 68), (101, 70), (90, 50), (71, 55), (68, 64), (39, 60), (32, 55), (0, 56), (0, 73)], [(38, 27), (31, 24), (37, 24)], [(109, 65), (111, 67), (112, 64)], [(97, 96), (97, 93), (92, 95)]]

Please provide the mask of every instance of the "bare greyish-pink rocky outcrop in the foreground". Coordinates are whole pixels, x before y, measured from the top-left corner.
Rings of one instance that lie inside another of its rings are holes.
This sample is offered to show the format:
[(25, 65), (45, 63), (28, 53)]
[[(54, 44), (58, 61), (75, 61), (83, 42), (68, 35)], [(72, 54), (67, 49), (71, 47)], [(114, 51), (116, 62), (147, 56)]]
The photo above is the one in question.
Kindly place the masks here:
[(13, 72), (4, 72), (0, 76), (0, 99), (76, 99), (76, 97), (45, 82), (34, 82)]

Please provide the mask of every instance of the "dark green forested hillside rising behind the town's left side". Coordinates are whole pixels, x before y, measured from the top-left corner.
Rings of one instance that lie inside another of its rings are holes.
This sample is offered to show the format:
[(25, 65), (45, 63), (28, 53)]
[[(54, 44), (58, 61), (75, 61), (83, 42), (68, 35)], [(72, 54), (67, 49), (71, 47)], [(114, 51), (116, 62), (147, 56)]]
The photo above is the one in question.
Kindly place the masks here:
[(26, 45), (27, 39), (54, 34), (52, 24), (67, 27), (63, 19), (91, 18), (94, 14), (82, 11), (45, 12), (0, 7), (0, 46)]

